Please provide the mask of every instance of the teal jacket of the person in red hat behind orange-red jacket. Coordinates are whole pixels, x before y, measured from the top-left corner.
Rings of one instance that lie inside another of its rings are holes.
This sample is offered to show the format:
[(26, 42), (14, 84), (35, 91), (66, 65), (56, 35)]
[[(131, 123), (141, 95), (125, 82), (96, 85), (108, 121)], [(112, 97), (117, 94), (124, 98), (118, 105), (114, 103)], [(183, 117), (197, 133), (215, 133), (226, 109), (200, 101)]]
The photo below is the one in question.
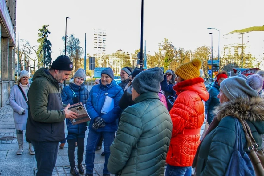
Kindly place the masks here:
[(209, 99), (205, 102), (205, 114), (207, 114), (206, 119), (209, 125), (214, 117), (214, 108), (220, 104), (219, 98), (217, 98), (217, 95), (219, 94), (219, 88), (220, 86), (215, 81), (213, 86), (208, 90), (210, 96)]

